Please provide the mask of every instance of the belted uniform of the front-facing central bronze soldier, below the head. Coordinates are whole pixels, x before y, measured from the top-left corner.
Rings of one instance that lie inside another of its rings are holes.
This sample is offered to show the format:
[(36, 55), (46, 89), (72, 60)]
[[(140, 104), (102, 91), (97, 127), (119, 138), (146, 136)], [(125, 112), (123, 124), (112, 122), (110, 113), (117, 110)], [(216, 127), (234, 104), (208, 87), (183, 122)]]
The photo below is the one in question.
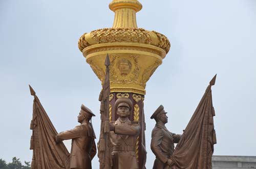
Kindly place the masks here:
[(124, 121), (120, 118), (116, 120), (115, 132), (110, 132), (112, 169), (139, 168), (135, 154), (136, 139), (139, 133), (140, 126), (137, 123), (132, 124), (128, 118)]

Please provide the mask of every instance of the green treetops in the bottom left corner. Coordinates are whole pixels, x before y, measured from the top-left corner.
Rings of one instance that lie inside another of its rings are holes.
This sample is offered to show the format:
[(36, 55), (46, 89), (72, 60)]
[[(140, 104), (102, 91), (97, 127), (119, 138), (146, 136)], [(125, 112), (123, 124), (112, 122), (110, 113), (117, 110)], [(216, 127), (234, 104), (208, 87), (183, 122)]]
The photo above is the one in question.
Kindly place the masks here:
[(25, 161), (25, 165), (22, 165), (19, 158), (13, 157), (12, 162), (6, 163), (5, 160), (0, 159), (0, 169), (31, 169), (30, 162)]

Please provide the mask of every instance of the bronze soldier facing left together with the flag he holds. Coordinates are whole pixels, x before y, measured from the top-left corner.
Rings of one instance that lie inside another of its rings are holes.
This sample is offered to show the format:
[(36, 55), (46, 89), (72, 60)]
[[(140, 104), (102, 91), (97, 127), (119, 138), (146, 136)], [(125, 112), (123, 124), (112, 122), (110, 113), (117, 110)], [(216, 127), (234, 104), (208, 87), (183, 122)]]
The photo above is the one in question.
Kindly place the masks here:
[[(92, 169), (91, 160), (96, 154), (96, 137), (89, 122), (95, 116), (92, 111), (82, 105), (78, 115), (81, 125), (58, 134), (35, 91), (29, 87), (34, 96), (30, 126), (33, 130), (30, 141), (30, 150), (33, 150), (31, 169)], [(72, 139), (71, 154), (62, 142), (66, 139)]]

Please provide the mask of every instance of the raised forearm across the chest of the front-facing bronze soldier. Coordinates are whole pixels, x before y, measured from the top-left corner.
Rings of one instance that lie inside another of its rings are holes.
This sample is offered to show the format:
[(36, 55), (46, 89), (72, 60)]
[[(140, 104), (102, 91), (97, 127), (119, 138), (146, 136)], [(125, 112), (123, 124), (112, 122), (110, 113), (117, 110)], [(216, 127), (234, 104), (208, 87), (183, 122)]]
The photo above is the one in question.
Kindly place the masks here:
[(137, 136), (140, 133), (140, 126), (115, 126), (115, 134)]

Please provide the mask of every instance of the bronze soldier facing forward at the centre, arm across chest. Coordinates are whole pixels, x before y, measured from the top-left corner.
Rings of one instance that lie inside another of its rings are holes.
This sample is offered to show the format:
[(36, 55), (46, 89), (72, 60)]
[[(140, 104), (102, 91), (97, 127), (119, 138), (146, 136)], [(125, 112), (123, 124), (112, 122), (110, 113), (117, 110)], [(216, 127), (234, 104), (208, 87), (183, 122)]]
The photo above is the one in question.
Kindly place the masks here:
[(135, 146), (140, 126), (138, 123), (132, 123), (128, 118), (132, 106), (132, 101), (127, 98), (120, 98), (115, 102), (118, 119), (110, 124), (112, 169), (139, 168)]

